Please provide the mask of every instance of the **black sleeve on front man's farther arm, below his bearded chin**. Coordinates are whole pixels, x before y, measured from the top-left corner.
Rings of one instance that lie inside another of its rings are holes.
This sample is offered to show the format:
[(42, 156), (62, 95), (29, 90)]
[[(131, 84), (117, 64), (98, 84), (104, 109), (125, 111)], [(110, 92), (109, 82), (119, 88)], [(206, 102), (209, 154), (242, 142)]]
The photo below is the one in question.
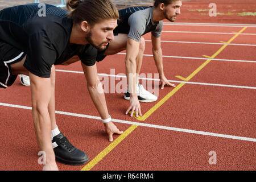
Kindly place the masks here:
[(78, 56), (86, 66), (93, 66), (96, 64), (97, 53), (98, 50), (88, 44), (78, 53)]

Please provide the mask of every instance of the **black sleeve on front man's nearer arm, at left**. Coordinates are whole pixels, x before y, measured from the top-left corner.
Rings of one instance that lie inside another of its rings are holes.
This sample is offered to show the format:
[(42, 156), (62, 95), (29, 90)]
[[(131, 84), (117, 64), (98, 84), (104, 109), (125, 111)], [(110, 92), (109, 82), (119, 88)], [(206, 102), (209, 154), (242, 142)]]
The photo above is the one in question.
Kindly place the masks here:
[(27, 46), (24, 67), (36, 76), (49, 78), (57, 53), (46, 33), (38, 32), (30, 35)]

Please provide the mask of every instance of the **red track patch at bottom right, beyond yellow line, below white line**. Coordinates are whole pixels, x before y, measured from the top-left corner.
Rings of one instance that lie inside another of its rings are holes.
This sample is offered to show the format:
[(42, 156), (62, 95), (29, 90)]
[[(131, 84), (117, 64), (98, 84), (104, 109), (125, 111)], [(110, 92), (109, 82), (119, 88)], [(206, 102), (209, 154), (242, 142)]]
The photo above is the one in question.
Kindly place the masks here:
[[(138, 127), (92, 171), (254, 170), (254, 146), (253, 142)], [(216, 151), (216, 165), (208, 163), (210, 151)]]

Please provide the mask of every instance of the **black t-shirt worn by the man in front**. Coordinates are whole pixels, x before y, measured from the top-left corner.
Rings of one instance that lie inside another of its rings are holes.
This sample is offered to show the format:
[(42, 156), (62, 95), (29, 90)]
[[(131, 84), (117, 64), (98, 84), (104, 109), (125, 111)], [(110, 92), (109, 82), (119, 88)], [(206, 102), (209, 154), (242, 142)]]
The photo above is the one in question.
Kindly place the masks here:
[(64, 63), (75, 55), (85, 65), (94, 65), (96, 48), (69, 43), (73, 22), (68, 11), (46, 4), (46, 14), (40, 14), (42, 7), (38, 5), (0, 11), (0, 40), (27, 54), (24, 67), (39, 77), (50, 77), (53, 64)]

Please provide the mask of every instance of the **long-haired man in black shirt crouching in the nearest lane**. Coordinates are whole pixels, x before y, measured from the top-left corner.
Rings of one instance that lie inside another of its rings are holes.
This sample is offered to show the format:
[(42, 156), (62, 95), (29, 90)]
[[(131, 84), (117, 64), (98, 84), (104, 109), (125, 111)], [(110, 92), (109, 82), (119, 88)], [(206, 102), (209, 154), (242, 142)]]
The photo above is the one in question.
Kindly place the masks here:
[(118, 11), (111, 0), (69, 0), (67, 7), (72, 9), (69, 14), (46, 5), (43, 16), (38, 3), (0, 11), (0, 87), (11, 86), (19, 74), (30, 76), (36, 138), (47, 156), (44, 170), (57, 170), (55, 160), (72, 165), (89, 160), (57, 128), (54, 65), (81, 60), (109, 140), (113, 141), (114, 133), (122, 133), (111, 122), (104, 93), (97, 90), (102, 85), (96, 67), (97, 49), (105, 49), (113, 40)]

